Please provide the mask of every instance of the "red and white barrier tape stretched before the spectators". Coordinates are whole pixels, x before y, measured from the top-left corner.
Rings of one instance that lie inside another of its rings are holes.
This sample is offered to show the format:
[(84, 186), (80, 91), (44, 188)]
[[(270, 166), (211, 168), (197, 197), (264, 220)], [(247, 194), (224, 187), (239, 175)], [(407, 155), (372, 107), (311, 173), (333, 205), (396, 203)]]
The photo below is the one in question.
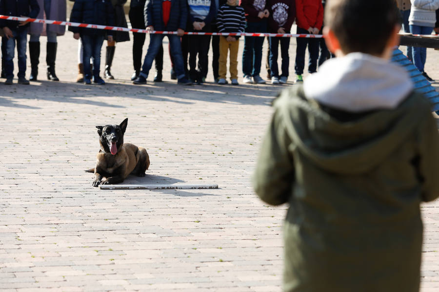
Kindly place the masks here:
[[(100, 24), (88, 24), (79, 22), (69, 22), (69, 21), (58, 21), (49, 19), (39, 19), (39, 18), (28, 18), (28, 17), (15, 17), (0, 15), (0, 19), (6, 20), (16, 20), (16, 21), (26, 21), (26, 22), (36, 22), (45, 24), (55, 24), (55, 25), (68, 25), (83, 28), (94, 28), (94, 29), (105, 29), (118, 32), (133, 32), (142, 34), (160, 34), (160, 35), (177, 35), (177, 32), (165, 32), (165, 31), (147, 31), (138, 28), (126, 28), (119, 26), (105, 26)], [(270, 33), (197, 33), (197, 32), (185, 32), (185, 35), (199, 35), (199, 36), (244, 36), (244, 37), (307, 37), (307, 38), (321, 38), (322, 35), (307, 35), (307, 34), (270, 34)]]

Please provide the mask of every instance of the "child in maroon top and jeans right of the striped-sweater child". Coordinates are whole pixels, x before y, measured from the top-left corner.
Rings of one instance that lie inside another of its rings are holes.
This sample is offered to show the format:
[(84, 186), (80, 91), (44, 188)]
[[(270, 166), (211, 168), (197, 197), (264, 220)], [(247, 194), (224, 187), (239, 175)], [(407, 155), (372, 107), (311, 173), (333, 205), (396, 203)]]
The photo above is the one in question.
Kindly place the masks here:
[[(240, 6), (244, 8), (245, 17), (247, 19), (245, 32), (266, 33), (267, 18), (270, 16), (266, 0), (241, 0)], [(259, 75), (264, 39), (265, 37), (244, 37), (244, 52), (242, 54), (244, 83), (265, 83), (265, 80)]]

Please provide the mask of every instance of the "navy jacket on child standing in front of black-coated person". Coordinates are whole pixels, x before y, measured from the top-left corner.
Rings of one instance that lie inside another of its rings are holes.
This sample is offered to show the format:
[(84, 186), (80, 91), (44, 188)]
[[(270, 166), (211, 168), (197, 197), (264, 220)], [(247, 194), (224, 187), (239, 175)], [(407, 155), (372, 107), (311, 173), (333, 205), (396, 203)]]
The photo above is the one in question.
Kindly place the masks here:
[[(76, 0), (70, 14), (71, 22), (114, 26), (114, 10), (110, 0)], [(69, 31), (81, 35), (112, 36), (112, 31), (69, 26)]]

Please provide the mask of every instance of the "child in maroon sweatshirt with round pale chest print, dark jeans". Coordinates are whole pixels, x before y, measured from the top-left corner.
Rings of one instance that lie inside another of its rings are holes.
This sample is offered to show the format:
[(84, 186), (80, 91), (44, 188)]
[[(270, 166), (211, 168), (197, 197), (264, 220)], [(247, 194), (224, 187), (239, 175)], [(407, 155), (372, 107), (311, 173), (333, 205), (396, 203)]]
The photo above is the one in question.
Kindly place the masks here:
[[(295, 0), (268, 0), (268, 18), (269, 33), (289, 34), (291, 26), (296, 19), (296, 2)], [(270, 72), (272, 84), (285, 84), (288, 80), (288, 69), (290, 66), (290, 48), (289, 37), (269, 37), (270, 41)], [(278, 48), (280, 43), (280, 55), (282, 57), (282, 74), (279, 76), (278, 68)]]

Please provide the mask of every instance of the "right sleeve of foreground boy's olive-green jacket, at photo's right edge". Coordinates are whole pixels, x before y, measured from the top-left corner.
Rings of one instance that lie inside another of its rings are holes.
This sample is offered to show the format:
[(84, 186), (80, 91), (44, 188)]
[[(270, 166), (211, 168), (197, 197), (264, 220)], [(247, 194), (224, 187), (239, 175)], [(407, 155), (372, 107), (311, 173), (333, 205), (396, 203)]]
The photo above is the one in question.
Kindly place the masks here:
[(420, 127), (419, 174), (423, 181), (422, 201), (428, 202), (439, 197), (439, 133), (436, 121), (429, 112), (426, 112)]

